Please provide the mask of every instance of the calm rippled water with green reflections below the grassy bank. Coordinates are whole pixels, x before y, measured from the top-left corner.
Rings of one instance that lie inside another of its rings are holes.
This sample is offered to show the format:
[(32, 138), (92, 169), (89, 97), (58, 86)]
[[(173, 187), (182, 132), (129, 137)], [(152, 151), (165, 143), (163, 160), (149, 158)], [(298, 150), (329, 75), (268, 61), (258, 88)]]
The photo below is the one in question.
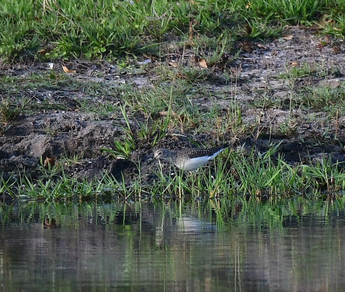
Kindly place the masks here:
[(345, 290), (343, 211), (255, 204), (0, 205), (0, 291)]

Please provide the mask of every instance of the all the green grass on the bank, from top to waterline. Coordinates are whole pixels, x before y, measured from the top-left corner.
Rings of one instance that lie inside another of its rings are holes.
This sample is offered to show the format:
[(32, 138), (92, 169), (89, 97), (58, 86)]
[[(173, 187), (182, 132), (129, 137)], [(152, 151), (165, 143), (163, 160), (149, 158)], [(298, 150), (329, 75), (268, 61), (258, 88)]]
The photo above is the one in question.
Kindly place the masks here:
[[(345, 113), (344, 85), (337, 88), (315, 87), (313, 83), (302, 88), (298, 85), (300, 79), (315, 77), (327, 82), (329, 75), (337, 75), (336, 70), (327, 71), (310, 64), (287, 67), (286, 72), (276, 77), (288, 81), (284, 88), (290, 91), (287, 96), (275, 98), (269, 88), (265, 88), (258, 98), (243, 102), (238, 99), (237, 91), (231, 91), (239, 81), (236, 72), (219, 72), (218, 69), (224, 69), (225, 64), (238, 58), (241, 49), (235, 48), (239, 42), (278, 38), (285, 26), (321, 23), (326, 14), (333, 21), (323, 24), (319, 32), (344, 38), (344, 9), (343, 1), (337, 0), (200, 0), (194, 4), (190, 1), (103, 0), (97, 5), (90, 0), (62, 0), (58, 5), (46, 1), (45, 7), (42, 1), (36, 0), (1, 2), (2, 61), (106, 58), (124, 73), (125, 84), (120, 81), (120, 74), (119, 81), (114, 78), (106, 86), (92, 79), (105, 77), (104, 71), (85, 80), (77, 80), (56, 68), (28, 72), (24, 77), (3, 75), (0, 77), (3, 88), (0, 135), (16, 125), (21, 115), (30, 117), (62, 111), (90, 113), (86, 120), (112, 123), (118, 128), (114, 147), (100, 149), (105, 152), (100, 155), (130, 159), (135, 151), (148, 153), (153, 147), (161, 146), (162, 140), (180, 136), (192, 143), (205, 133), (219, 143), (256, 140), (262, 134), (294, 137), (300, 127), (300, 120), (294, 117), (295, 110), (308, 111), (305, 120), (310, 124), (328, 122), (329, 127), (336, 128), (338, 117)], [(186, 60), (181, 52), (185, 51), (205, 59), (209, 69), (202, 70), (197, 64), (183, 66)], [(143, 53), (159, 62), (140, 65), (136, 60)], [(167, 53), (179, 56), (178, 68), (161, 62)], [(72, 67), (70, 69), (83, 69)], [(143, 76), (142, 86), (128, 81), (126, 73)], [(217, 89), (215, 84), (227, 87)], [(50, 91), (63, 92), (63, 98), (59, 94), (46, 94)], [(261, 118), (248, 121), (251, 115), (246, 113), (248, 104), (262, 111), (284, 110), (284, 119), (275, 124), (263, 124)], [(317, 121), (319, 111), (326, 112), (322, 121)], [(331, 141), (329, 127), (325, 128), (322, 141)], [(51, 137), (59, 134), (50, 126), (39, 130)], [(337, 141), (337, 128), (334, 132), (333, 142)], [(320, 142), (320, 137), (315, 137), (315, 141)], [(82, 154), (79, 154), (61, 155), (59, 163), (48, 170), (39, 167), (38, 179), (33, 180), (26, 171), (13, 171), (10, 179), (2, 179), (0, 193), (7, 192), (21, 199), (60, 201), (114, 197), (222, 198), (228, 195), (262, 198), (305, 192), (323, 198), (324, 191), (344, 190), (344, 174), (339, 165), (328, 160), (289, 165), (277, 147), (265, 153), (244, 147), (225, 151), (216, 159), (214, 168), (207, 166), (195, 176), (175, 169), (171, 171), (178, 175), (170, 176), (163, 168), (152, 169), (157, 177), (147, 184), (138, 174), (130, 175), (126, 183), (125, 179), (114, 181), (107, 173), (89, 181), (71, 178), (66, 168), (81, 163)], [(140, 160), (133, 162), (140, 173)]]

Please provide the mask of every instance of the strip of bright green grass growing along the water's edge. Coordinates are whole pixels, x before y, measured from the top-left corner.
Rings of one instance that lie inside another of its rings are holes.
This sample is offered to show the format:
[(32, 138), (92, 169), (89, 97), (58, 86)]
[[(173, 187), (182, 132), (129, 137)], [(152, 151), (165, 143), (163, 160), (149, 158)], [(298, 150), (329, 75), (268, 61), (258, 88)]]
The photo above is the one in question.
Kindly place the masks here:
[[(289, 165), (278, 154), (278, 148), (279, 145), (265, 153), (247, 153), (244, 148), (231, 152), (227, 150), (215, 160), (214, 168), (206, 166), (194, 174), (184, 173), (174, 167), (166, 172), (158, 167), (156, 179), (148, 184), (143, 182), (139, 174), (130, 175), (130, 180), (126, 182), (116, 181), (109, 174), (92, 180), (71, 178), (65, 174), (63, 165), (67, 162), (78, 163), (78, 158), (62, 158), (49, 169), (41, 167), (42, 174), (38, 180), (32, 180), (25, 173), (16, 182), (13, 182), (12, 177), (7, 181), (2, 179), (0, 193), (8, 193), (19, 199), (43, 199), (48, 202), (73, 198), (88, 201), (228, 196), (261, 200), (266, 197), (294, 197), (304, 193), (323, 198), (324, 192), (342, 197), (339, 191), (345, 189), (345, 173), (338, 163), (332, 163), (329, 159), (314, 165)], [(137, 167), (140, 173), (141, 165), (137, 164)]]

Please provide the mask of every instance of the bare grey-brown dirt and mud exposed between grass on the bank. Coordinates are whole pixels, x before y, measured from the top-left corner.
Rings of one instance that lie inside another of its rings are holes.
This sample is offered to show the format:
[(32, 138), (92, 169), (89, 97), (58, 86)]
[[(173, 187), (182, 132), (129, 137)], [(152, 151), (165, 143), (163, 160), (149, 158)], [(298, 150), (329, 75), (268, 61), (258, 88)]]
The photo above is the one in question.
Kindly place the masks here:
[[(251, 48), (243, 47), (239, 57), (222, 68), (223, 71), (213, 68), (205, 82), (195, 84), (195, 88), (202, 86), (207, 90), (209, 97), (196, 96), (193, 103), (203, 110), (216, 99), (220, 111), (224, 110), (226, 114), (236, 98), (243, 123), (253, 124), (253, 132), (243, 133), (235, 139), (231, 132), (224, 133), (224, 140), (232, 140), (234, 147), (246, 143), (248, 149), (255, 145), (256, 150), (265, 151), (270, 145), (284, 140), (280, 151), (291, 163), (318, 160), (325, 154), (331, 154), (333, 160), (343, 161), (344, 150), (341, 145), (345, 141), (345, 127), (342, 123), (345, 113), (320, 112), (312, 106), (308, 108), (306, 104), (302, 107), (304, 101), (299, 98), (299, 94), (311, 94), (306, 88), (344, 86), (344, 43), (334, 39), (331, 43), (322, 44), (322, 36), (299, 28), (290, 28), (285, 34), (293, 38), (260, 43), (260, 46), (254, 43)], [(185, 65), (188, 62), (191, 61), (186, 58)], [(55, 63), (57, 72), (61, 70), (60, 65)], [(71, 80), (97, 82), (107, 88), (116, 89), (120, 84), (128, 84), (132, 90), (155, 90), (155, 82), (159, 80), (159, 74), (152, 74), (147, 68), (126, 74), (106, 62), (79, 62), (73, 66), (75, 68), (71, 69), (76, 69), (78, 73), (70, 75)], [(155, 67), (154, 64), (148, 66)], [(299, 68), (299, 71), (293, 71), (293, 67)], [(17, 64), (0, 68), (0, 75), (20, 77), (24, 83), (32, 74), (47, 74), (47, 68), (48, 63)], [(304, 69), (308, 69), (309, 73), (303, 75)], [(225, 80), (219, 77), (222, 72), (231, 78)], [(294, 72), (297, 73), (293, 75)], [(290, 74), (290, 77), (284, 77), (286, 74)], [(123, 92), (119, 89), (115, 90), (117, 93), (114, 95), (90, 96), (82, 87), (73, 88), (72, 81), (70, 87), (62, 88), (55, 75), (51, 78), (52, 82), (46, 87), (22, 92), (13, 91), (13, 87), (5, 84), (1, 90), (2, 98), (9, 97), (13, 103), (25, 98), (35, 108), (42, 104), (42, 109), (31, 114), (21, 114), (0, 129), (0, 173), (3, 173), (3, 178), (7, 180), (12, 173), (25, 170), (32, 179), (37, 179), (41, 174), (41, 162), (46, 157), (59, 161), (62, 157), (72, 160), (73, 155), (79, 155), (73, 163), (65, 162), (66, 174), (84, 179), (100, 177), (108, 171), (118, 180), (122, 180), (123, 173), (127, 180), (131, 173), (138, 172), (136, 163), (140, 162), (143, 179), (152, 179), (152, 169), (157, 169), (157, 165), (152, 160), (154, 149), (150, 143), (139, 143), (130, 159), (109, 157), (101, 149), (114, 149), (114, 141), (126, 135), (126, 121), (78, 110), (81, 103), (97, 102), (111, 102), (116, 108), (122, 102)], [(18, 88), (22, 88), (20, 84)], [(54, 106), (49, 108), (51, 104)], [(144, 115), (130, 117), (129, 123), (132, 128), (136, 128), (137, 121), (143, 119)], [(180, 133), (178, 129), (171, 132)], [(194, 134), (189, 131), (184, 134), (204, 144), (214, 139), (213, 134), (207, 132)], [(157, 147), (192, 145), (188, 139), (175, 136), (174, 139), (159, 143)]]

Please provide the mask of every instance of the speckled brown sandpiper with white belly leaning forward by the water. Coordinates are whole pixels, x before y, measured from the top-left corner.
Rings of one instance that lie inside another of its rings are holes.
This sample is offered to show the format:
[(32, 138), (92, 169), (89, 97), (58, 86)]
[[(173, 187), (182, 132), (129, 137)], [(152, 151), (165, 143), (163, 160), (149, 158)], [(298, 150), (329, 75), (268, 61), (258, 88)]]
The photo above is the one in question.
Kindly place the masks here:
[(212, 148), (185, 148), (181, 150), (158, 149), (155, 158), (169, 160), (176, 167), (193, 171), (214, 159), (221, 151), (228, 148), (229, 144)]

